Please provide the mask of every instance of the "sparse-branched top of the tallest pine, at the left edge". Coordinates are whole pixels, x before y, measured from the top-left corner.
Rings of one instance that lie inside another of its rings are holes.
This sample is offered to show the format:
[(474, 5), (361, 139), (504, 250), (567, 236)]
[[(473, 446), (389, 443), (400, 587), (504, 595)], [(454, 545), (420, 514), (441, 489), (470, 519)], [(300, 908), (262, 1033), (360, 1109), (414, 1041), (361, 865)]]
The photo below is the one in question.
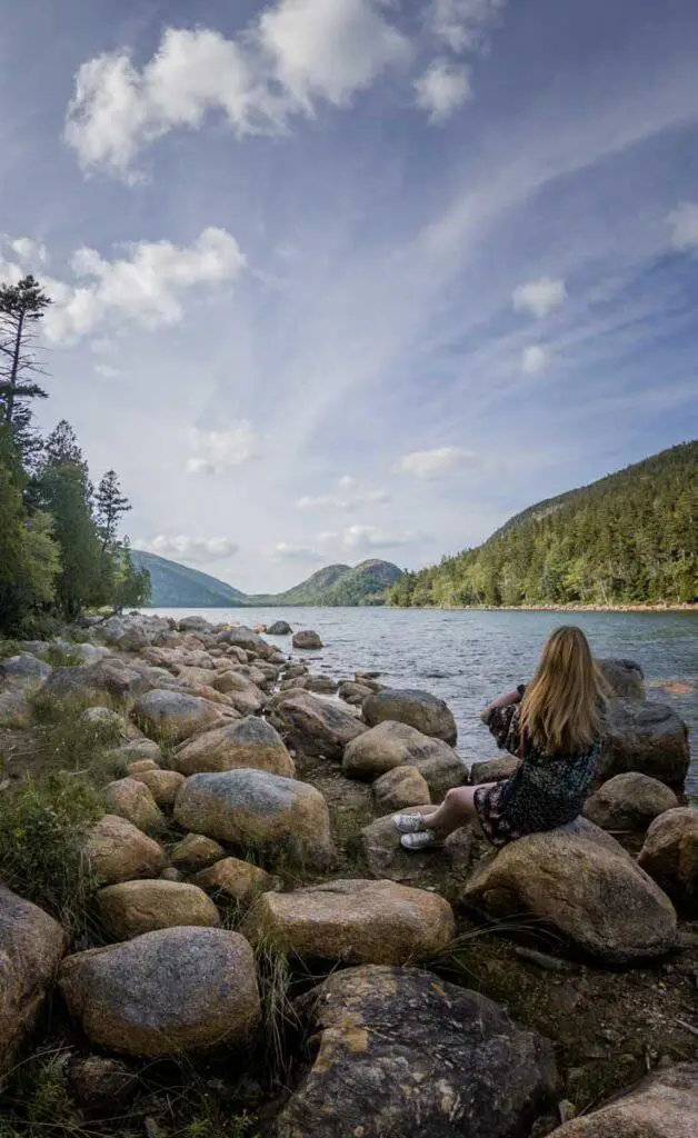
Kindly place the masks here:
[(33, 277), (0, 286), (0, 419), (13, 426), (27, 399), (46, 399), (32, 377), (43, 374), (36, 349), (38, 324), (51, 299)]

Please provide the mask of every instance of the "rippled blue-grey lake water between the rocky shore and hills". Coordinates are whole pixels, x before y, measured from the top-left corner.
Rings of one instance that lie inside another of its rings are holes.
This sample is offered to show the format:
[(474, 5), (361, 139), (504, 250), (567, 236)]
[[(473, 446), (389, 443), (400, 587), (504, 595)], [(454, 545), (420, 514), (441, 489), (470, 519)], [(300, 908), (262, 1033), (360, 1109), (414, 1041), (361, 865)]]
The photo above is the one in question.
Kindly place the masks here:
[[(180, 619), (184, 609), (157, 609)], [(691, 612), (461, 612), (434, 609), (199, 609), (212, 622), (271, 625), (287, 620), (294, 630), (314, 628), (321, 652), (295, 653), (313, 670), (335, 678), (379, 671), (383, 683), (422, 687), (449, 703), (468, 759), (495, 753), (479, 711), (495, 696), (526, 682), (549, 633), (574, 622), (586, 633), (596, 655), (629, 657), (644, 671), (648, 698), (668, 703), (687, 720), (692, 744), (690, 793), (698, 798), (698, 615)], [(288, 652), (288, 636), (269, 637)], [(673, 693), (664, 684), (689, 692)]]

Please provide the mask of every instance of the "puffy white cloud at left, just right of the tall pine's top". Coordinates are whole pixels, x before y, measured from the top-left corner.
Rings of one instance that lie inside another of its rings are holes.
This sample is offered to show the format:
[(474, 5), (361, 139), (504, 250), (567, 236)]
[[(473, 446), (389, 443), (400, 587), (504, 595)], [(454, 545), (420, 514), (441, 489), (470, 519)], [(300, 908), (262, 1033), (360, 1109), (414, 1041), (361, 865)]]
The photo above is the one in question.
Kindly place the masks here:
[[(25, 241), (19, 238), (13, 247)], [(126, 256), (108, 261), (96, 249), (81, 248), (71, 257), (76, 281), (42, 275), (54, 299), (43, 319), (43, 330), (55, 344), (72, 343), (106, 323), (126, 322), (153, 330), (174, 324), (184, 314), (182, 297), (202, 284), (235, 280), (245, 266), (240, 247), (224, 229), (205, 229), (191, 245), (172, 241), (136, 241)], [(9, 272), (6, 272), (9, 267)], [(18, 264), (0, 258), (5, 279), (22, 275)], [(92, 341), (92, 351), (105, 352), (108, 339)], [(110, 348), (108, 349), (110, 351)]]

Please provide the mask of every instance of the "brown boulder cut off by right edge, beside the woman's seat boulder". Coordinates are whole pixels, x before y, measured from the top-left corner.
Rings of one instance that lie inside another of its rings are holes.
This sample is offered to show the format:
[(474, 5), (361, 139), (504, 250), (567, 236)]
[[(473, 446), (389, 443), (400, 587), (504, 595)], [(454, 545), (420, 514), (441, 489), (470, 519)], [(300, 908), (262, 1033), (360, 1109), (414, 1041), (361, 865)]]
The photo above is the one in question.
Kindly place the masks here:
[(698, 917), (698, 810), (667, 810), (652, 822), (639, 864), (688, 917)]

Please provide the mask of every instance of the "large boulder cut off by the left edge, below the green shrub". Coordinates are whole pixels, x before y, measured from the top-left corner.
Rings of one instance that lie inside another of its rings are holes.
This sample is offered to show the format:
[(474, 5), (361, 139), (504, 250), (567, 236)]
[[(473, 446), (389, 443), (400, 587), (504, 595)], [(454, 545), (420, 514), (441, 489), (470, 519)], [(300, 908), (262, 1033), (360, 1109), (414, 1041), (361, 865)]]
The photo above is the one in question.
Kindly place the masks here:
[(57, 921), (0, 885), (0, 1082), (39, 1022), (66, 947)]

